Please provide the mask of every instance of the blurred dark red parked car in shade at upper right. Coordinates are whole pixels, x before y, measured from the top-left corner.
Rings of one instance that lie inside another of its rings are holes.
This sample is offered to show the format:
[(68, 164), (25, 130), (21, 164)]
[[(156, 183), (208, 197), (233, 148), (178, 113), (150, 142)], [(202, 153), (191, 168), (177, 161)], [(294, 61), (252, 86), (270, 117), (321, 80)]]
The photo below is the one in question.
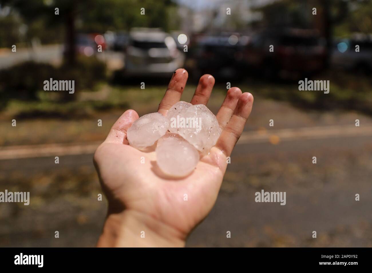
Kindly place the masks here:
[(325, 67), (325, 41), (313, 29), (266, 30), (252, 36), (244, 60), (264, 77), (302, 77)]

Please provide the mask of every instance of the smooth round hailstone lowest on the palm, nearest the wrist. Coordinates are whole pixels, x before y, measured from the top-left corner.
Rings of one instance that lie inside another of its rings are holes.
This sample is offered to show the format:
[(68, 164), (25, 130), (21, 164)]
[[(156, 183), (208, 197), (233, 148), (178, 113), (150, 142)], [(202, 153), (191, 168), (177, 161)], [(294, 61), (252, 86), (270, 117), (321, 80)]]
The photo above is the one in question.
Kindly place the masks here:
[(199, 152), (195, 147), (173, 133), (158, 140), (155, 152), (159, 168), (170, 176), (186, 176), (199, 162)]

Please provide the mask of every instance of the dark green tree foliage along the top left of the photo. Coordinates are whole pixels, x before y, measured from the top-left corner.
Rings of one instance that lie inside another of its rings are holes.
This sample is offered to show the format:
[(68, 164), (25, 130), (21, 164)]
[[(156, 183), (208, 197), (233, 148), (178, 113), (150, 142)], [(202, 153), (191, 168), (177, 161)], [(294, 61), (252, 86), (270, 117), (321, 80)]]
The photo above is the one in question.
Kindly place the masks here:
[[(28, 39), (38, 36), (47, 43), (62, 41), (65, 33), (61, 26), (66, 25), (68, 14), (74, 16), (79, 32), (104, 33), (106, 30), (129, 30), (132, 27), (170, 30), (177, 29), (179, 24), (174, 20), (176, 4), (170, 0), (54, 0), (52, 5), (47, 3), (45, 0), (0, 0), (1, 6), (12, 9), (9, 16), (0, 18), (0, 38), (2, 32), (14, 28), (14, 14), (19, 14), (21, 21), (28, 26)], [(55, 15), (55, 7), (58, 7), (59, 15)], [(142, 7), (145, 15), (141, 15)], [(169, 17), (173, 19), (169, 20)], [(12, 33), (17, 33), (14, 30)], [(10, 41), (9, 37), (4, 38)]]

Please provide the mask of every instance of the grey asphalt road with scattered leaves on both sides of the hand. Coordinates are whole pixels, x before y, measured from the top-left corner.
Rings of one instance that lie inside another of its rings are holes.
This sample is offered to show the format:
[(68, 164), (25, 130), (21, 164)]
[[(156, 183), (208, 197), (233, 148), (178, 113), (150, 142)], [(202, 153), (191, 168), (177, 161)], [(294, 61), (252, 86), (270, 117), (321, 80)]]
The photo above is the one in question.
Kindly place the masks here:
[[(366, 127), (360, 129), (245, 132), (215, 207), (192, 232), (187, 246), (371, 247), (372, 134)], [(30, 206), (1, 204), (1, 246), (95, 244), (106, 202), (96, 198), (100, 187), (93, 146), (85, 154), (64, 149), (60, 164), (54, 163), (54, 155), (28, 157), (26, 151), (23, 158), (18, 154), (0, 161), (2, 189), (32, 192)], [(317, 164), (312, 164), (313, 156)], [(286, 205), (254, 202), (255, 192), (262, 189), (286, 192)], [(355, 201), (356, 193), (360, 201)], [(227, 231), (231, 238), (226, 238)]]

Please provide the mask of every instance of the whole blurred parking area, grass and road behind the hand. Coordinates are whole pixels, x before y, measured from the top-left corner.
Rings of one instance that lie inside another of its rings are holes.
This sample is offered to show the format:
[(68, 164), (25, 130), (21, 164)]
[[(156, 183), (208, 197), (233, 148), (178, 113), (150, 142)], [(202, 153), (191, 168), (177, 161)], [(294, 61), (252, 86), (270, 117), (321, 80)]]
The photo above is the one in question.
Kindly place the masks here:
[[(255, 98), (187, 246), (372, 247), (371, 33), (369, 0), (0, 0), (0, 191), (31, 196), (0, 204), (0, 246), (94, 246), (107, 208), (95, 148), (125, 110), (155, 112), (184, 67), (182, 100), (205, 73), (212, 112), (228, 83)], [(330, 93), (299, 91), (305, 77)], [(44, 91), (49, 78), (75, 93)], [(286, 205), (255, 203), (262, 189)]]

